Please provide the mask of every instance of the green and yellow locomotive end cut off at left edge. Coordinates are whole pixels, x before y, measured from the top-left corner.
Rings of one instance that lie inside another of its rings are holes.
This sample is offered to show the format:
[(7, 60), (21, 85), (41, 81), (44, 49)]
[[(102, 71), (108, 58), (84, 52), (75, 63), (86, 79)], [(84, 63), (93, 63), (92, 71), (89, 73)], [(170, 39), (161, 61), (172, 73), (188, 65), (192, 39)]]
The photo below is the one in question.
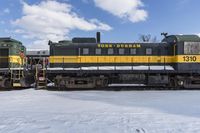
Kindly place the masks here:
[(12, 38), (0, 38), (0, 88), (27, 87), (26, 48)]

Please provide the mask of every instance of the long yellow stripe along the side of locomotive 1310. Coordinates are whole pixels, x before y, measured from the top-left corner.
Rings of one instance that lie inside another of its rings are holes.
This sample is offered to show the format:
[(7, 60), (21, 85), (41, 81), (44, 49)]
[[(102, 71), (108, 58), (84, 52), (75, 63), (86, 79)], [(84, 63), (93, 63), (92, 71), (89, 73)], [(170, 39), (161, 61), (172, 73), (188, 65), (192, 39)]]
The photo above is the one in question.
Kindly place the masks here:
[[(187, 58), (193, 58), (192, 61)], [(200, 55), (177, 56), (50, 56), (50, 63), (200, 63)]]

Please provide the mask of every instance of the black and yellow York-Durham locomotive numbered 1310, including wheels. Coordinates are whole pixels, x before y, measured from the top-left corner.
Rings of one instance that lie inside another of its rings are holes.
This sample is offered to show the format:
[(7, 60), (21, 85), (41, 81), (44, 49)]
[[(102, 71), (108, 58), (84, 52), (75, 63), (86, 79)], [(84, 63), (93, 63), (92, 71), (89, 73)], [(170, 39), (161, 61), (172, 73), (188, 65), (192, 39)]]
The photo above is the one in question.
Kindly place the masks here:
[(144, 85), (200, 87), (200, 38), (169, 35), (160, 43), (104, 43), (96, 38), (49, 41), (46, 77), (57, 88)]

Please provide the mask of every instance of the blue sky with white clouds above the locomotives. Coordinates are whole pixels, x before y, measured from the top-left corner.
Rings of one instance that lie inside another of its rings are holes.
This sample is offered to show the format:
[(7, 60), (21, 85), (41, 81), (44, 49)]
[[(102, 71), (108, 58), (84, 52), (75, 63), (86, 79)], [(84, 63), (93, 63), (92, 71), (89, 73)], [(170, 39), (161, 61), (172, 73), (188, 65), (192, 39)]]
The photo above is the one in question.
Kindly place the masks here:
[(150, 34), (200, 35), (199, 0), (1, 0), (0, 37), (28, 49), (48, 49), (48, 40), (95, 37), (137, 42)]

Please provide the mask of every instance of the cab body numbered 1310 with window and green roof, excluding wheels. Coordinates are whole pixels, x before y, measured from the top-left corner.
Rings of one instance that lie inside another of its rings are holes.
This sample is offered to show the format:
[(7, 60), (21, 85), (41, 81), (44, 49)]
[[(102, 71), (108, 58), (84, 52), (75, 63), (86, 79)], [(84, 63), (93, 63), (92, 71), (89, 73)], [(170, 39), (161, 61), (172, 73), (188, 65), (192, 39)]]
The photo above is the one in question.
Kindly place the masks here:
[(177, 71), (200, 70), (200, 38), (196, 35), (172, 35), (163, 39), (173, 45), (174, 65)]

